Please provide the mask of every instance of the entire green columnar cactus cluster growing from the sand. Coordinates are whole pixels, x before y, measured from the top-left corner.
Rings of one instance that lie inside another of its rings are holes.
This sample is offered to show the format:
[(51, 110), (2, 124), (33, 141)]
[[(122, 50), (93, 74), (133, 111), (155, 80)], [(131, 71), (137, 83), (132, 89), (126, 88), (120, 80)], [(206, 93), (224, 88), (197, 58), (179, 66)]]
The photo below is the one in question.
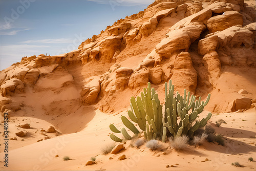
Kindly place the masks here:
[[(148, 86), (143, 89), (141, 97), (131, 98), (131, 110), (128, 111), (128, 116), (133, 122), (138, 124), (147, 140), (159, 138), (165, 142), (168, 132), (174, 138), (182, 135), (191, 137), (196, 130), (204, 127), (207, 120), (211, 117), (211, 113), (209, 113), (201, 121), (196, 121), (198, 114), (203, 112), (204, 106), (209, 102), (209, 99), (210, 94), (205, 102), (201, 102), (201, 97), (195, 101), (196, 96), (191, 95), (190, 97), (190, 92), (186, 94), (186, 90), (184, 90), (184, 97), (179, 92), (174, 94), (174, 85), (172, 85), (172, 80), (169, 80), (169, 87), (167, 87), (165, 82), (165, 109), (163, 114), (163, 106), (160, 104), (158, 94), (154, 88), (151, 89), (151, 83), (148, 82)], [(134, 134), (140, 133), (135, 125), (125, 116), (122, 116), (121, 119), (123, 124)], [(177, 120), (179, 120), (179, 124)], [(123, 137), (127, 140), (132, 139), (124, 128), (119, 131), (111, 124), (110, 129), (114, 133), (122, 133)], [(113, 134), (110, 135), (110, 138), (116, 142), (122, 141), (122, 139)]]

